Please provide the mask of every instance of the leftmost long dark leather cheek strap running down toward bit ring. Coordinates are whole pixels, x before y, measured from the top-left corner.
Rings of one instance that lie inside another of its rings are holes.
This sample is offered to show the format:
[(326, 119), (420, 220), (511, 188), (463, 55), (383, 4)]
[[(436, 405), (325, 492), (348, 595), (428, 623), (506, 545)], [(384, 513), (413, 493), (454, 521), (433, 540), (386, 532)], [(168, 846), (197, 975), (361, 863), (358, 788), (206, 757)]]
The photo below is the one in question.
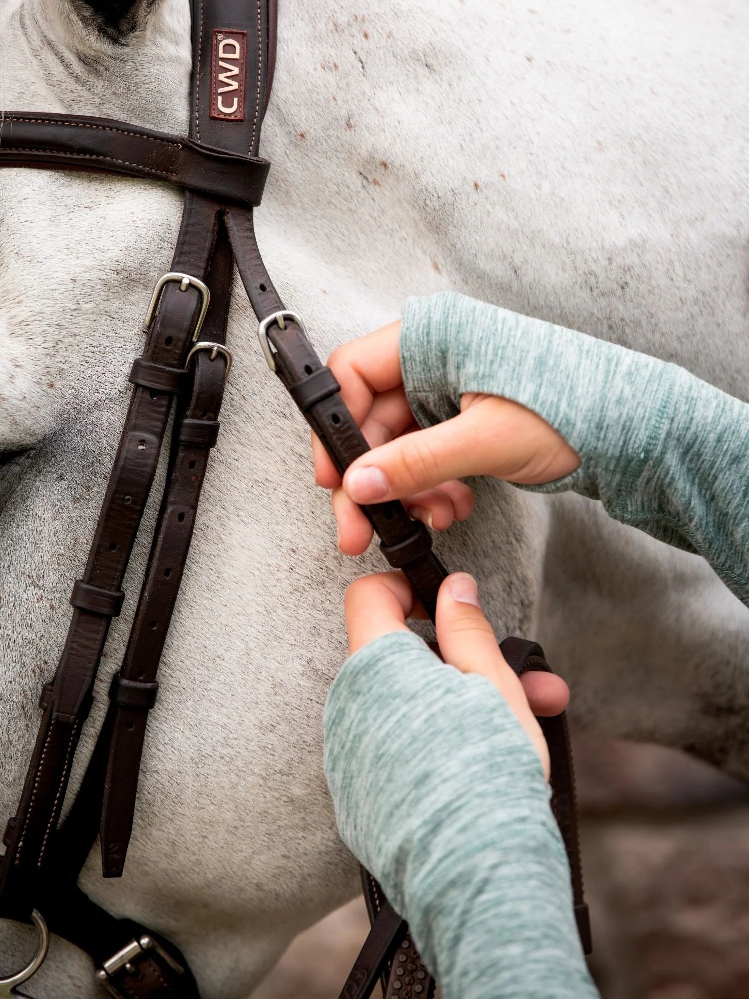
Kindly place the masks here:
[[(215, 246), (215, 203), (186, 194), (173, 270), (204, 279)], [(184, 367), (196, 320), (198, 293), (165, 286), (159, 312), (146, 337), (144, 360)], [(65, 798), (81, 726), (91, 704), (111, 616), (104, 593), (122, 588), (172, 409), (172, 394), (136, 385), (102, 504), (83, 578), (76, 586), (70, 630), (37, 737), (24, 791), (2, 862), (0, 914), (27, 919)], [(88, 587), (88, 589), (86, 589)], [(100, 594), (94, 609), (81, 606)]]

